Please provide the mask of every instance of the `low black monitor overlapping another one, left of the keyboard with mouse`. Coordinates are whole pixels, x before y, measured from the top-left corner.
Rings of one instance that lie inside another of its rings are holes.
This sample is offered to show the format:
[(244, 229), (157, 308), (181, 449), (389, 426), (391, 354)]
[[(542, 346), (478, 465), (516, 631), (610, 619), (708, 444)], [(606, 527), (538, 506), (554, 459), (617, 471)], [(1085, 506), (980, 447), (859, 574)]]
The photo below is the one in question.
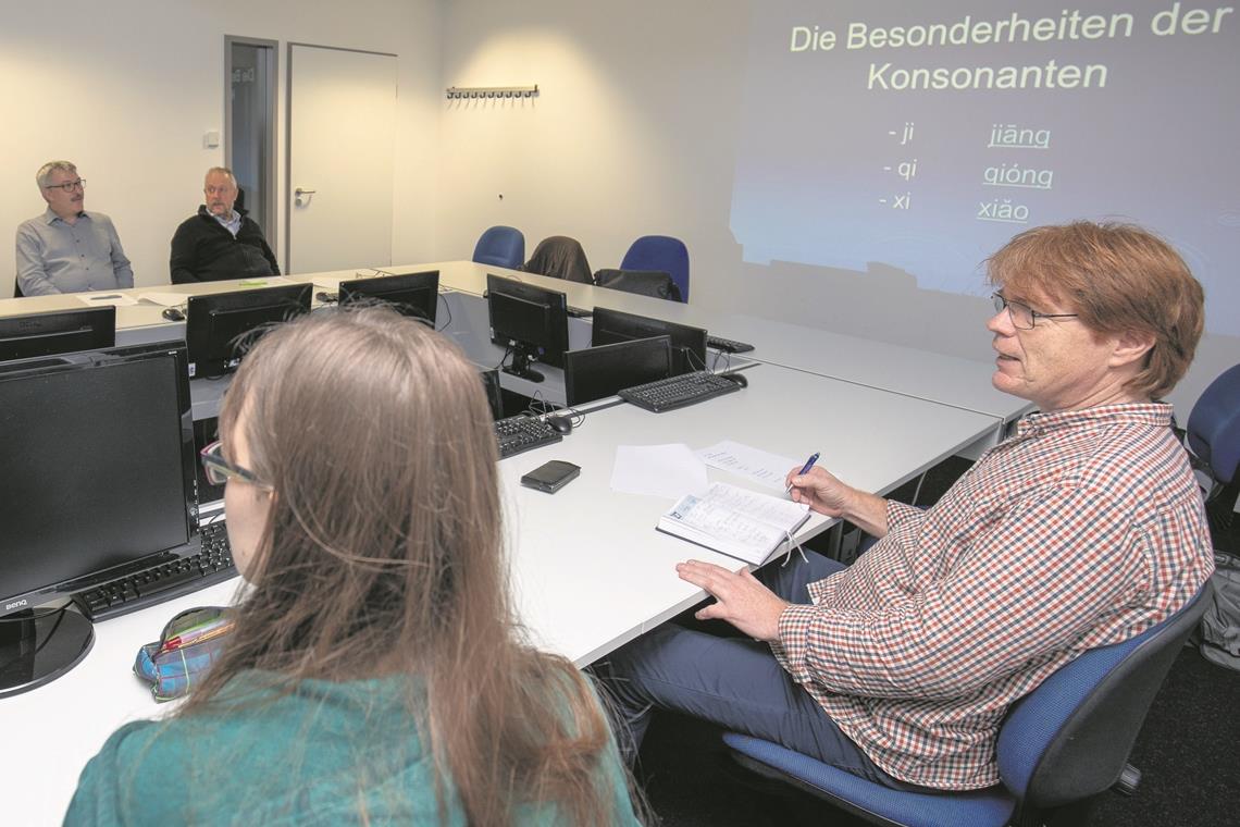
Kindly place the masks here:
[(569, 407), (615, 396), (622, 388), (672, 374), (670, 336), (637, 338), (564, 353), (564, 394)]

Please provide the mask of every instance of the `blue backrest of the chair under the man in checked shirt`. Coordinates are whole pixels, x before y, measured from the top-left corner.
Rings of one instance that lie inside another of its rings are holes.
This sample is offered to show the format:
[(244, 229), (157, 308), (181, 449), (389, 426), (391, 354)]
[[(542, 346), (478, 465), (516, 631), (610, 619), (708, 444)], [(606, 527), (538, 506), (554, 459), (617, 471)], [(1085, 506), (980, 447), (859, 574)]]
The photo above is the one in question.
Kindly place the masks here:
[(1012, 705), (999, 730), (999, 775), (1025, 807), (1059, 807), (1120, 780), (1209, 589), (1207, 580), (1188, 605), (1136, 637), (1084, 652)]

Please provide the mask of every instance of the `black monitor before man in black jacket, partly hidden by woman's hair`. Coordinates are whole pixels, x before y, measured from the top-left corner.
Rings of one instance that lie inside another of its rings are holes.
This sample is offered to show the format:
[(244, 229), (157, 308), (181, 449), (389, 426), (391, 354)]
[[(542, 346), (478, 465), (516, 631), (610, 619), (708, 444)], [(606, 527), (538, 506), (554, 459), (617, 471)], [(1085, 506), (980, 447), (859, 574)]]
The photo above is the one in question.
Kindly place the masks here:
[(185, 345), (190, 376), (223, 376), (272, 325), (310, 312), (314, 285), (293, 284), (190, 296)]

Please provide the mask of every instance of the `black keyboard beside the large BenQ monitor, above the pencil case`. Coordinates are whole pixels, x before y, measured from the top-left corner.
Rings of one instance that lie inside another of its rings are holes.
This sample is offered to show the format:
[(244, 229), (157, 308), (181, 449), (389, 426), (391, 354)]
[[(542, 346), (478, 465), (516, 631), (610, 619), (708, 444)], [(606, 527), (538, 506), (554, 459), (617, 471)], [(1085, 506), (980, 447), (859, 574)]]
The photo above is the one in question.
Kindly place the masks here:
[(223, 521), (203, 526), (200, 536), (197, 554), (169, 553), (145, 569), (78, 591), (73, 601), (89, 620), (107, 620), (237, 577)]

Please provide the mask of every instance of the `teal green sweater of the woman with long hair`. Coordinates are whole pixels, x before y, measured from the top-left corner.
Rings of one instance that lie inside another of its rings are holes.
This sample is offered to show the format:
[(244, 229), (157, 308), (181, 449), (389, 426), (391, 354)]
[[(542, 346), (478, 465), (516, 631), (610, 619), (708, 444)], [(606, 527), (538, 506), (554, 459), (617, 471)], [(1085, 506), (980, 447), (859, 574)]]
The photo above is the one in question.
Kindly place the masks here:
[[(66, 825), (436, 825), (435, 771), (409, 713), (405, 681), (304, 681), (255, 693), (253, 673), (222, 693), (223, 714), (122, 727), (91, 759)], [(248, 697), (242, 698), (248, 692)], [(601, 769), (615, 823), (636, 825), (615, 746)], [(465, 825), (450, 781), (448, 820)], [(558, 825), (552, 805), (518, 823)]]

